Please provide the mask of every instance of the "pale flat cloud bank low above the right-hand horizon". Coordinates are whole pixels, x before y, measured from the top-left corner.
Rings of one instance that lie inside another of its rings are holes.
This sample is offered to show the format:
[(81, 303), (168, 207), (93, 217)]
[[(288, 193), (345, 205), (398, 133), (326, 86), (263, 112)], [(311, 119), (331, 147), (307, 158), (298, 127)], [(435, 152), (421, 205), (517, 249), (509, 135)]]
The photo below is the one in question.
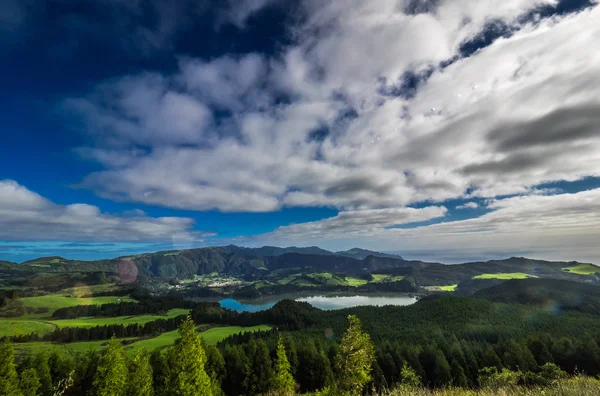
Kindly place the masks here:
[[(338, 215), (319, 222), (280, 227), (273, 233), (241, 242), (261, 246), (277, 241), (282, 246), (308, 246), (318, 241), (319, 246), (334, 250), (369, 246), (397, 251), (409, 258), (450, 263), (508, 255), (598, 263), (599, 205), (600, 189), (519, 196), (490, 202), (491, 211), (477, 218), (412, 228), (390, 228), (393, 215), (389, 215), (389, 222), (378, 222), (378, 216), (367, 211), (351, 215), (350, 225)], [(443, 208), (424, 209), (431, 218), (443, 216)], [(420, 216), (423, 220), (428, 217), (425, 212), (420, 212)]]

